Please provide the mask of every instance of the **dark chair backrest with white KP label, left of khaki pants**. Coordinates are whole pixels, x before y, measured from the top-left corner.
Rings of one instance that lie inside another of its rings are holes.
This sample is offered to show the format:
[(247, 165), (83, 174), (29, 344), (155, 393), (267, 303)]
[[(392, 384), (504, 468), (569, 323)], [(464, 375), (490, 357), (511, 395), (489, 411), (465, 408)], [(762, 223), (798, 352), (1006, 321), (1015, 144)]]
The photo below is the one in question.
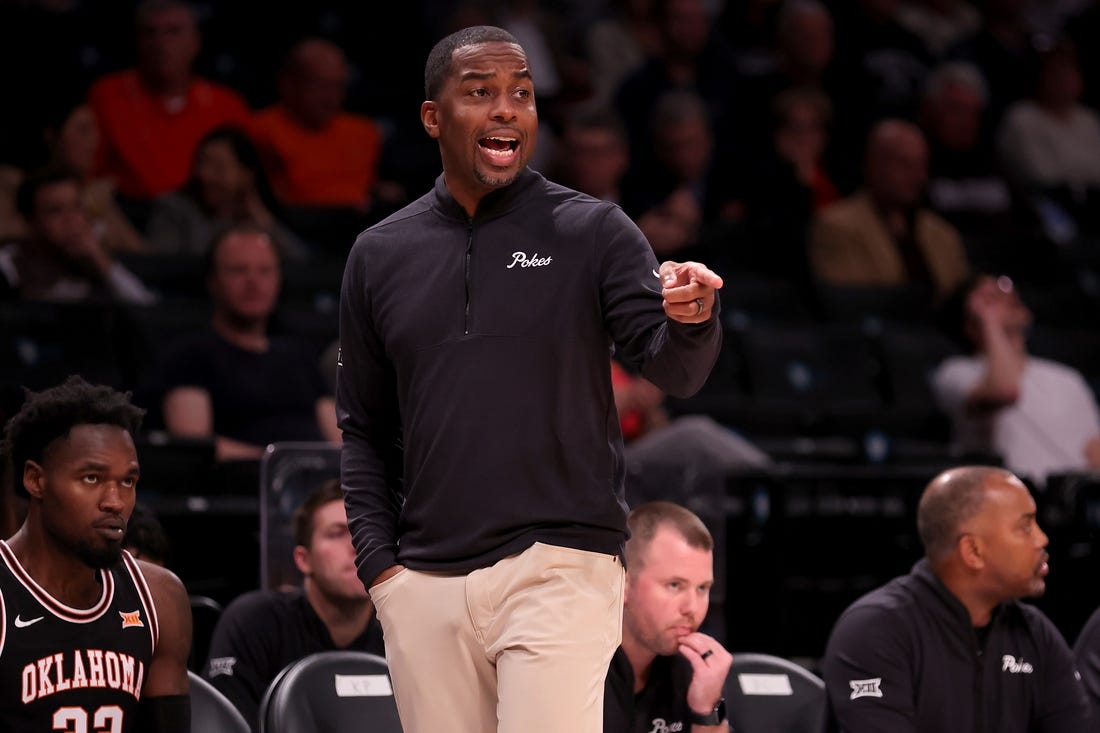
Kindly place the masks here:
[(319, 652), (288, 665), (260, 701), (261, 733), (402, 733), (386, 660)]

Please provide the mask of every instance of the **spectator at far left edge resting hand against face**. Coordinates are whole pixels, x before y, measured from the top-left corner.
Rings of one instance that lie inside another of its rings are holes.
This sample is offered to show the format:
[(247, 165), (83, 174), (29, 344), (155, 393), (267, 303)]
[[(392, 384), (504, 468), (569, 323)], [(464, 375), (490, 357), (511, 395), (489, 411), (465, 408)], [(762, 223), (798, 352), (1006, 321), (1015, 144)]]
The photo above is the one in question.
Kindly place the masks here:
[(81, 192), (66, 168), (47, 166), (23, 180), (16, 205), (28, 236), (0, 249), (0, 278), (28, 300), (154, 303), (156, 295), (107, 252)]

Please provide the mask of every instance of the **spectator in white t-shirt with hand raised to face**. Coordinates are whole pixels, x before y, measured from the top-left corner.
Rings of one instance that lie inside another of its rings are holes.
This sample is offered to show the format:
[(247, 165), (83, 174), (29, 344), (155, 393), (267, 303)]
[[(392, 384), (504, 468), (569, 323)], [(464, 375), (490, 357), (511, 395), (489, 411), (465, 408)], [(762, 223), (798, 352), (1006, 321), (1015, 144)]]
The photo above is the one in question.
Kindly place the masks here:
[(1032, 314), (1009, 277), (980, 274), (944, 304), (948, 332), (965, 352), (933, 374), (955, 439), (1001, 456), (1042, 484), (1048, 473), (1100, 469), (1100, 409), (1081, 374), (1027, 353)]

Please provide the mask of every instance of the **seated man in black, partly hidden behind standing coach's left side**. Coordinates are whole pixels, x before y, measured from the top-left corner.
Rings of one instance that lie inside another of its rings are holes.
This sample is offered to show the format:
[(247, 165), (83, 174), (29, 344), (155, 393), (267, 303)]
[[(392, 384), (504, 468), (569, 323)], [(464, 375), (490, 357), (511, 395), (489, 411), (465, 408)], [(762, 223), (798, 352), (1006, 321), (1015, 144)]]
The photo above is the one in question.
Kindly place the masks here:
[(355, 573), (339, 480), (302, 502), (294, 534), (302, 588), (241, 595), (226, 608), (210, 641), (205, 676), (253, 730), (264, 690), (292, 661), (329, 649), (385, 655), (374, 605)]

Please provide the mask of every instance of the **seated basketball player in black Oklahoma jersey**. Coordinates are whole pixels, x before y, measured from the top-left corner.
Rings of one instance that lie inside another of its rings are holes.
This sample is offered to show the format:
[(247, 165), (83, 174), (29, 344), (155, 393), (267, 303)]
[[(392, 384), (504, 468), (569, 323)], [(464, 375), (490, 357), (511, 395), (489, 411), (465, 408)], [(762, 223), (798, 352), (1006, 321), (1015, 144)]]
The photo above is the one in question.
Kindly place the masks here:
[(6, 732), (189, 733), (187, 592), (122, 549), (143, 415), (129, 394), (70, 376), (29, 393), (4, 428), (30, 494), (0, 541)]

